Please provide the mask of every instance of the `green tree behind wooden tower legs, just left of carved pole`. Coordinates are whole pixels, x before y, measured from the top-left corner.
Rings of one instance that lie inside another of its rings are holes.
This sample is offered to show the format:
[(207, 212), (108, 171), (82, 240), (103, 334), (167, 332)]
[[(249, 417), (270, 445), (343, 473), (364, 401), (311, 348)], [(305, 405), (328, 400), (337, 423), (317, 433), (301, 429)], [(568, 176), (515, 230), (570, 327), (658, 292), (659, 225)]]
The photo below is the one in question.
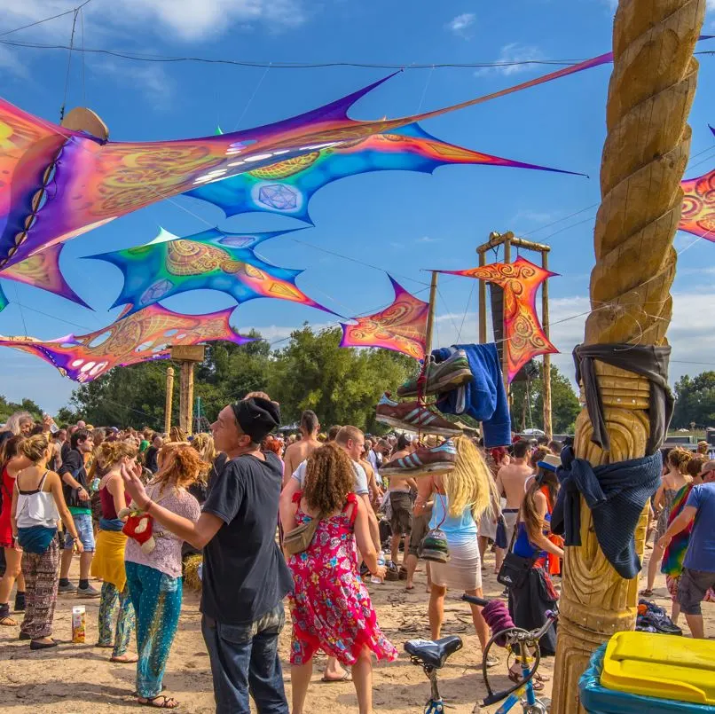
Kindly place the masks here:
[[(544, 398), (542, 396), (543, 365), (538, 365), (539, 376), (530, 383), (512, 385), (512, 428), (544, 428)], [(527, 397), (527, 393), (529, 397)], [(568, 377), (551, 365), (551, 412), (554, 434), (573, 434), (576, 417), (581, 410), (578, 396)]]

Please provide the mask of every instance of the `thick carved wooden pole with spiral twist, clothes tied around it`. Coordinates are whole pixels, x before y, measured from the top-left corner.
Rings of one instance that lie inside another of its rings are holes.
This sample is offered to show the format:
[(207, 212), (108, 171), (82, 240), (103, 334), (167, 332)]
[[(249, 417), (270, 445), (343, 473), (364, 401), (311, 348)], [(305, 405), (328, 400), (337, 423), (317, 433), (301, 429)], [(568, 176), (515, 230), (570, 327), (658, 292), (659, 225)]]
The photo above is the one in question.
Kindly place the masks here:
[[(613, 31), (608, 136), (601, 162), (591, 315), (585, 343), (665, 343), (675, 275), (672, 248), (680, 221), (680, 181), (688, 163), (687, 124), (695, 96), (695, 42), (705, 0), (621, 0)], [(576, 425), (576, 452), (592, 464), (645, 454), (648, 381), (600, 362), (611, 449), (591, 443), (587, 413)], [(644, 512), (636, 544), (645, 545)], [(562, 619), (554, 674), (554, 714), (583, 712), (578, 679), (593, 650), (635, 624), (638, 578), (617, 577), (598, 547), (581, 503), (581, 543), (566, 549)]]

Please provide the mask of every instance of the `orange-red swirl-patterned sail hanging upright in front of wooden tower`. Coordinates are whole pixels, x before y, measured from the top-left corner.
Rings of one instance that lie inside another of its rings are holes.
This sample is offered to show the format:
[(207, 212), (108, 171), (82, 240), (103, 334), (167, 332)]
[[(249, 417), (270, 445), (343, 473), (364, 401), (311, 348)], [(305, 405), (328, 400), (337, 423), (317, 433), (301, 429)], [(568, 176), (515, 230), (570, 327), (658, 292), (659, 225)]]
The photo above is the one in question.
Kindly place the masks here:
[(514, 263), (491, 263), (468, 271), (440, 271), (494, 283), (504, 290), (505, 348), (507, 374), (514, 380), (531, 357), (559, 350), (548, 341), (536, 311), (538, 287), (556, 273), (545, 271), (522, 257)]

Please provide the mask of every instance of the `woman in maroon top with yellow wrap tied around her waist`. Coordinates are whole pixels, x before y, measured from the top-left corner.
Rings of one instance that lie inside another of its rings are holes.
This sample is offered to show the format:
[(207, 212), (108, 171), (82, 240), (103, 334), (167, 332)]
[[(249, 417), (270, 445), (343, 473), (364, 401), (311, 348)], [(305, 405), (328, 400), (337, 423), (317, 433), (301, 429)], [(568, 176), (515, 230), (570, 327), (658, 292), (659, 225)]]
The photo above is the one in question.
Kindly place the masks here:
[[(131, 604), (124, 549), (127, 537), (122, 533), (124, 519), (118, 514), (127, 506), (122, 480), (122, 466), (133, 465), (136, 447), (129, 442), (103, 442), (95, 451), (95, 465), (103, 474), (99, 481), (101, 517), (97, 547), (92, 559), (91, 574), (102, 579), (99, 600), (97, 647), (112, 649), (112, 662), (137, 662), (137, 655), (127, 654), (134, 632), (134, 607)], [(114, 636), (112, 621), (116, 616)]]

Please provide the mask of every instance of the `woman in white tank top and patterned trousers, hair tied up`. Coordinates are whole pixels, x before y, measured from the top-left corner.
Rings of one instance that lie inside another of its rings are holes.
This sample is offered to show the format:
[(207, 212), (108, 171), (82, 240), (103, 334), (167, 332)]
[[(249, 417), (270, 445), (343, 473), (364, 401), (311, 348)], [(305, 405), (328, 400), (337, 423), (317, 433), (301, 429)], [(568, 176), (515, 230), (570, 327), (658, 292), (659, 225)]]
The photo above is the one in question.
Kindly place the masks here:
[(52, 452), (47, 436), (31, 436), (20, 450), (30, 462), (18, 472), (12, 491), (12, 537), (22, 550), (25, 575), (25, 618), (20, 625), (20, 639), (29, 639), (30, 649), (46, 649), (57, 647), (51, 635), (59, 583), (60, 518), (75, 539), (78, 553), (83, 552), (83, 545), (65, 503), (59, 475), (47, 469)]

